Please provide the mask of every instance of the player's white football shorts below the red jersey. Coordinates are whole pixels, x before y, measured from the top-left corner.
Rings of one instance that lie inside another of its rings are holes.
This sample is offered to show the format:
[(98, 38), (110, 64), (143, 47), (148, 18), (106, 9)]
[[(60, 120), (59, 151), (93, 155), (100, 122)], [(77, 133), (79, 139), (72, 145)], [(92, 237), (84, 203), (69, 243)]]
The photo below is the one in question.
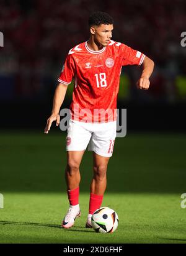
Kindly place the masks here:
[(116, 134), (116, 121), (88, 123), (70, 119), (66, 136), (66, 150), (86, 150), (89, 144), (89, 151), (94, 151), (103, 157), (111, 157)]

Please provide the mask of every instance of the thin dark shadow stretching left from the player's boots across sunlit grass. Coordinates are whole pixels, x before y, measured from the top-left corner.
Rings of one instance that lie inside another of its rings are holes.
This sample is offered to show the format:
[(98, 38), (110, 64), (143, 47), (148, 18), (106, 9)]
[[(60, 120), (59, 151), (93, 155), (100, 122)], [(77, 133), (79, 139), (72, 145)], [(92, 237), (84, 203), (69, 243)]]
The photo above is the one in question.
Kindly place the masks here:
[(63, 229), (61, 225), (55, 224), (43, 224), (43, 223), (35, 223), (35, 222), (17, 222), (17, 221), (0, 221), (0, 225), (31, 225), (31, 226), (41, 226), (41, 227), (54, 227), (56, 229), (61, 229), (63, 231), (80, 231), (80, 232), (94, 232), (90, 230), (83, 230), (85, 227), (78, 227), (81, 229)]

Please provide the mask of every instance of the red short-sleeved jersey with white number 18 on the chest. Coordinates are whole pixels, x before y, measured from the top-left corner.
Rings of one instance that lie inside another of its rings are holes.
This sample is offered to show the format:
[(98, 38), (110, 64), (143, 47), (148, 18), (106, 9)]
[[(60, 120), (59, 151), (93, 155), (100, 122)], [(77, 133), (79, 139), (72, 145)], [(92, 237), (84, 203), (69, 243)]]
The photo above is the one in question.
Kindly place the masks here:
[(141, 65), (144, 57), (113, 40), (99, 51), (91, 50), (87, 42), (69, 50), (58, 81), (69, 85), (74, 78), (71, 118), (83, 122), (115, 121), (122, 66)]

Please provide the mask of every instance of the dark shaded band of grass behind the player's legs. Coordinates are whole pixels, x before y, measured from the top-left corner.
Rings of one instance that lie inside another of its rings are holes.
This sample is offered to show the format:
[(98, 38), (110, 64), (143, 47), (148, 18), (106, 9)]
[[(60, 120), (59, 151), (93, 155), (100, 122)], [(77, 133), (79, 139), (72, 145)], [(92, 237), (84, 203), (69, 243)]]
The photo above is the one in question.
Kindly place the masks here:
[[(45, 136), (41, 131), (36, 130), (33, 133), (21, 130), (20, 132), (19, 130), (1, 131), (1, 191), (4, 193), (66, 191), (65, 179), (61, 176), (66, 166), (64, 145), (66, 134), (60, 132)], [(108, 163), (107, 191), (184, 193), (185, 133), (131, 132), (126, 138), (117, 139), (115, 153)], [(92, 153), (86, 151), (81, 162), (82, 192), (89, 193), (92, 168)]]

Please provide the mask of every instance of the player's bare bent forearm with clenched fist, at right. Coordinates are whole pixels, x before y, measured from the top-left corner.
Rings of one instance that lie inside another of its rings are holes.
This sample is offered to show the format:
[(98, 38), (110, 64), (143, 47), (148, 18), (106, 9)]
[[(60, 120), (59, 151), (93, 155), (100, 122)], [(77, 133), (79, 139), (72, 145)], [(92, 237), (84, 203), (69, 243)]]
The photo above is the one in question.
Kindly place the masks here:
[(141, 77), (136, 83), (136, 86), (139, 89), (148, 89), (150, 85), (149, 78), (154, 70), (154, 62), (148, 57), (144, 57), (142, 64), (143, 71), (141, 73)]

